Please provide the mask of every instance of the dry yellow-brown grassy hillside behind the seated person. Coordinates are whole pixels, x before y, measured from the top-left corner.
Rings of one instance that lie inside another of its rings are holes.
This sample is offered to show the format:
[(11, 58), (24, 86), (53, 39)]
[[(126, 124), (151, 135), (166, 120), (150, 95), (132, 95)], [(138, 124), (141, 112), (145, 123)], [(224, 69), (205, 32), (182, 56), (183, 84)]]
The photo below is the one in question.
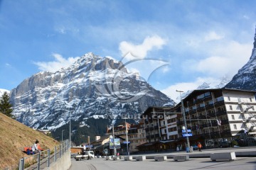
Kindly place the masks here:
[(0, 113), (0, 169), (14, 166), (22, 157), (28, 157), (21, 152), (21, 148), (32, 146), (35, 140), (39, 140), (43, 149), (52, 150), (58, 145), (58, 141), (53, 138)]

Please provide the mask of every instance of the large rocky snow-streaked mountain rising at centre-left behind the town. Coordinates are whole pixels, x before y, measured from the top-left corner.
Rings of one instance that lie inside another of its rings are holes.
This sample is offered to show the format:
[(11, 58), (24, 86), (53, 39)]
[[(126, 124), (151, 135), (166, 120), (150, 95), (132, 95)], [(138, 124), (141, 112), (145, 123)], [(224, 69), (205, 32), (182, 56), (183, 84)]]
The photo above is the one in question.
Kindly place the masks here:
[(11, 90), (16, 120), (33, 128), (59, 128), (71, 119), (138, 118), (148, 106), (174, 106), (122, 62), (88, 53), (58, 72), (39, 72)]

